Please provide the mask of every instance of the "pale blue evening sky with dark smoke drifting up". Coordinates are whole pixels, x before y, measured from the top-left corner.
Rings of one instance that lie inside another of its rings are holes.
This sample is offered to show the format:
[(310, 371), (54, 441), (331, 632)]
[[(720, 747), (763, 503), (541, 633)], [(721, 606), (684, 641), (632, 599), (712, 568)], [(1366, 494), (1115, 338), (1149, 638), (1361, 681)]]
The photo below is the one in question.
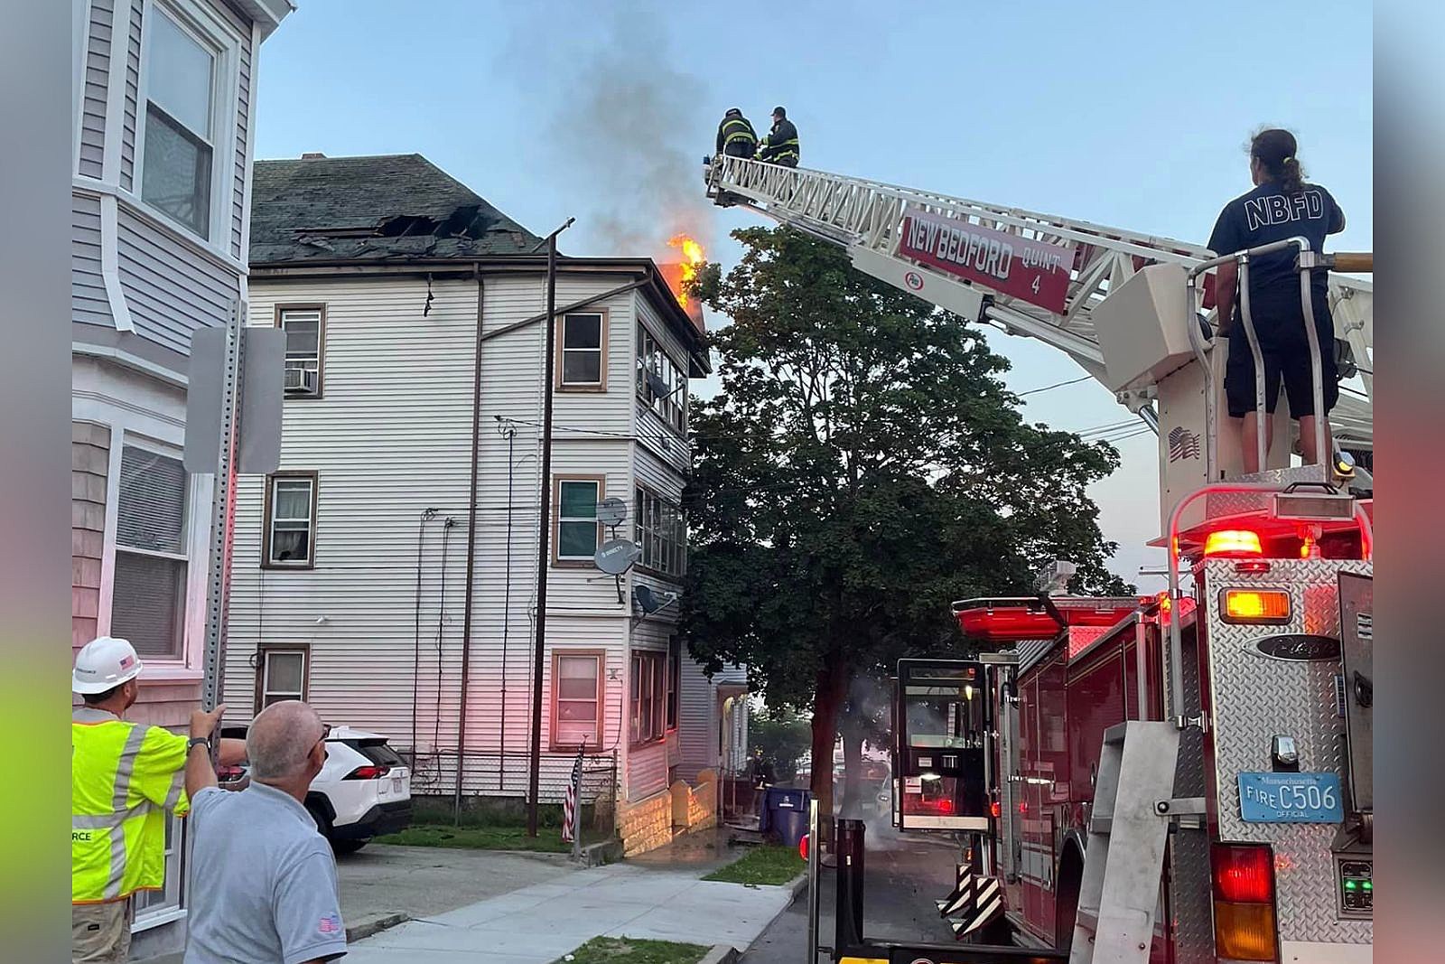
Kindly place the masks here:
[[(788, 107), (802, 165), (1204, 243), (1250, 189), (1260, 126), (1373, 249), (1371, 12), (1364, 3), (1084, 4), (863, 0), (473, 3), (296, 0), (262, 48), (256, 158), (422, 153), (565, 254), (652, 256), (685, 230), (724, 267), (757, 215), (708, 204), (702, 156), (740, 107)], [(709, 318), (711, 325), (725, 324)], [(988, 330), (1027, 392), (1079, 377)], [(715, 390), (702, 384), (701, 393)], [(1129, 412), (1094, 382), (1025, 397), (1088, 431)], [(1092, 489), (1111, 568), (1163, 564), (1152, 435)]]

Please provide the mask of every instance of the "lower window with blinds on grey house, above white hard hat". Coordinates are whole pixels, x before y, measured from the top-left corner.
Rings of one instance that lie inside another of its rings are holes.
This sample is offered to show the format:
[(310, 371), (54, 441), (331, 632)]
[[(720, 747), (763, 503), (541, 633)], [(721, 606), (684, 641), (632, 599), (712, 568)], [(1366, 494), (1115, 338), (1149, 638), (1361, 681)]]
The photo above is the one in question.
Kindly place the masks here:
[(188, 489), (179, 458), (121, 448), (110, 634), (142, 656), (184, 653)]

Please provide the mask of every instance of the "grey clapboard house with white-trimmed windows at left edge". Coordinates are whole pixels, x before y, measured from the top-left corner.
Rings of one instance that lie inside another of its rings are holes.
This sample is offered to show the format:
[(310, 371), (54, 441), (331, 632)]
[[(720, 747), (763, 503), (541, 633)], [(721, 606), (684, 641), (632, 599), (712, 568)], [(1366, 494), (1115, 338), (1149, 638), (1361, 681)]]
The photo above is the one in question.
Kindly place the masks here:
[[(130, 718), (201, 695), (211, 484), (181, 468), (191, 334), (244, 311), (256, 62), (290, 0), (72, 0), (71, 647), (129, 637)], [(179, 950), (181, 832), (134, 902)], [(143, 932), (143, 934), (142, 934)]]

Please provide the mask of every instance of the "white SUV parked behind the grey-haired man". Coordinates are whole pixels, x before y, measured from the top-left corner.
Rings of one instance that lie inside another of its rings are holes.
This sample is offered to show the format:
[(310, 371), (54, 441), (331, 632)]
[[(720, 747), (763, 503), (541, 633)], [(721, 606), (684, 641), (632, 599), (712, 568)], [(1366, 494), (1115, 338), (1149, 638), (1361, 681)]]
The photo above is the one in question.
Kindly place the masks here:
[[(223, 736), (246, 737), (246, 727), (223, 727)], [(351, 727), (332, 727), (327, 762), (306, 792), (306, 809), (338, 854), (350, 854), (373, 837), (412, 824), (412, 772), (386, 744), (386, 737)], [(225, 789), (250, 782), (247, 766), (223, 767)]]

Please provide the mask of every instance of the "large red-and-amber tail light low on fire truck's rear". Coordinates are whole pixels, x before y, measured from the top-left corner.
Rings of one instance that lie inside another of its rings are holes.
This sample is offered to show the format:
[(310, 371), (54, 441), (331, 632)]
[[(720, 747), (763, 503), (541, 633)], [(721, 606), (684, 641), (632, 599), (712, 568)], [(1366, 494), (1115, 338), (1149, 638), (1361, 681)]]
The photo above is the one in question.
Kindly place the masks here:
[(1263, 844), (1214, 844), (1214, 950), (1235, 961), (1277, 961), (1274, 857)]

